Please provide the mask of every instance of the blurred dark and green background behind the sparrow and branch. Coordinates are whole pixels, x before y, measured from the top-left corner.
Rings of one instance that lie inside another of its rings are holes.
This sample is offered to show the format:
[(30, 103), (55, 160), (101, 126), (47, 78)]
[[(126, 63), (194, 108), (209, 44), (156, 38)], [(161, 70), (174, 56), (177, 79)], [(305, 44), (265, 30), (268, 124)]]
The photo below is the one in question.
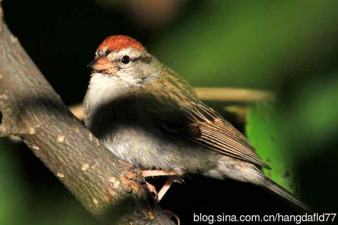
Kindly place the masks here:
[[(315, 211), (337, 213), (337, 0), (3, 0), (2, 6), (9, 28), (66, 104), (82, 101), (86, 65), (112, 34), (141, 41), (194, 86), (273, 91), (276, 101), (246, 104), (241, 121), (224, 111), (239, 102), (207, 103), (275, 169), (266, 175)], [(182, 224), (199, 212), (297, 213), (253, 185), (192, 178), (174, 184), (161, 202)], [(24, 144), (0, 139), (1, 225), (96, 223)]]

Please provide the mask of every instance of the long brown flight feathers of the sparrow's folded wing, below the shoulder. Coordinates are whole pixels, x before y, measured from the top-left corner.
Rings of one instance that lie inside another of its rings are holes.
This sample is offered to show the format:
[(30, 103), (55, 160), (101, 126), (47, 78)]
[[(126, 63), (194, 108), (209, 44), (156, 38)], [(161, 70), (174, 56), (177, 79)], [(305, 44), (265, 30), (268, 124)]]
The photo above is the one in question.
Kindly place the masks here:
[(157, 121), (168, 131), (179, 133), (210, 150), (270, 168), (256, 154), (247, 139), (217, 112), (202, 102), (192, 105), (191, 109), (183, 107), (184, 109), (177, 110), (177, 105), (171, 110), (167, 108), (172, 112), (170, 120), (163, 118), (162, 113), (156, 110)]

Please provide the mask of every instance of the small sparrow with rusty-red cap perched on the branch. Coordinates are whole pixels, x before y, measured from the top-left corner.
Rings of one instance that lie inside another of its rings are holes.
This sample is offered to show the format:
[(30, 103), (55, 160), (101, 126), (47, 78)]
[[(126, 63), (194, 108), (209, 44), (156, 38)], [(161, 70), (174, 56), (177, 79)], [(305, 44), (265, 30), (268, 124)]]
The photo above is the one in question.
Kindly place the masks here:
[(186, 80), (141, 43), (128, 36), (110, 36), (88, 66), (93, 72), (83, 103), (85, 125), (145, 176), (231, 178), (264, 187), (310, 210), (266, 177), (259, 168), (269, 166), (241, 132), (199, 100)]

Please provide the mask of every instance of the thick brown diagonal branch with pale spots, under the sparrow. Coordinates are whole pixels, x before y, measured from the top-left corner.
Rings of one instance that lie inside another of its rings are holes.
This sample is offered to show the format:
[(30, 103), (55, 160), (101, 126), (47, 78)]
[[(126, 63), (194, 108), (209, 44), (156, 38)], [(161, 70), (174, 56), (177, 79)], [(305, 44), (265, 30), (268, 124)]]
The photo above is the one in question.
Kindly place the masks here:
[(0, 136), (12, 134), (104, 223), (173, 224), (154, 202), (144, 177), (130, 171), (72, 115), (1, 17)]

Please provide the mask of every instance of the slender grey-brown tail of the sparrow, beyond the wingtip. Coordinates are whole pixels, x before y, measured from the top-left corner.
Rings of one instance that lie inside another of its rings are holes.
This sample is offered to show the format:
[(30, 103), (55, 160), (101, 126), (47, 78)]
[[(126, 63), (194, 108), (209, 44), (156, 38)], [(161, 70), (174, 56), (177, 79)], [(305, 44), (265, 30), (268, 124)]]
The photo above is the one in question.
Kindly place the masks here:
[(282, 188), (280, 185), (278, 185), (276, 182), (274, 182), (270, 178), (265, 177), (265, 182), (263, 186), (267, 188), (268, 190), (278, 194), (279, 196), (289, 200), (290, 202), (298, 205), (303, 210), (308, 211), (308, 212), (313, 211), (310, 207), (308, 207), (306, 204), (302, 203), (301, 201), (297, 200), (289, 191)]

